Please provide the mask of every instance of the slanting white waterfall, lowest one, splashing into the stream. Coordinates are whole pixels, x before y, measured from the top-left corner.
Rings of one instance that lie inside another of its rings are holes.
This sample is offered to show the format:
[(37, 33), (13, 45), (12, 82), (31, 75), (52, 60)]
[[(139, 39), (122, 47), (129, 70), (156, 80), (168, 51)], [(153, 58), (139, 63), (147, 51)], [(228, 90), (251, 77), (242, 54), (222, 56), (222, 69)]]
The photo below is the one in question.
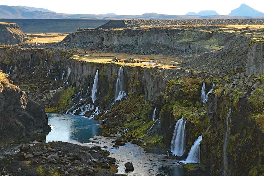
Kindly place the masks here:
[(193, 146), (191, 147), (191, 151), (189, 152), (185, 163), (199, 163), (200, 162), (200, 143), (202, 140), (202, 136), (199, 136)]

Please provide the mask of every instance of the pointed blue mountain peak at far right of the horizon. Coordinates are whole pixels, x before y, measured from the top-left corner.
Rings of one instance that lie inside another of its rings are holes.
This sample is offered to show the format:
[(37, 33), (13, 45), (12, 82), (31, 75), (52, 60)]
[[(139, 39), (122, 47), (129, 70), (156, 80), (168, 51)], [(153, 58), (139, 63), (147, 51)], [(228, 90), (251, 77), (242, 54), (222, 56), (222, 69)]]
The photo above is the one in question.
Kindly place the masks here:
[(263, 17), (264, 13), (257, 11), (256, 9), (251, 8), (246, 4), (241, 4), (239, 8), (236, 8), (231, 11), (229, 15), (234, 16), (251, 16), (251, 17)]

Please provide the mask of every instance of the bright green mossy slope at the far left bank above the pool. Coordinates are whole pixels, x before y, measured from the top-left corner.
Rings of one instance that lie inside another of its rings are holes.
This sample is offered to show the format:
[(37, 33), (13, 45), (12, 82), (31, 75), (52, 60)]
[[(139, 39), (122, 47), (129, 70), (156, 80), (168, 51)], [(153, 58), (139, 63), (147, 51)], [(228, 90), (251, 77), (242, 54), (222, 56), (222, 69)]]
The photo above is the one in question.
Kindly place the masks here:
[(63, 91), (61, 94), (59, 103), (55, 107), (46, 107), (46, 113), (57, 113), (60, 111), (66, 112), (72, 106), (72, 96), (74, 94), (75, 88), (69, 88)]

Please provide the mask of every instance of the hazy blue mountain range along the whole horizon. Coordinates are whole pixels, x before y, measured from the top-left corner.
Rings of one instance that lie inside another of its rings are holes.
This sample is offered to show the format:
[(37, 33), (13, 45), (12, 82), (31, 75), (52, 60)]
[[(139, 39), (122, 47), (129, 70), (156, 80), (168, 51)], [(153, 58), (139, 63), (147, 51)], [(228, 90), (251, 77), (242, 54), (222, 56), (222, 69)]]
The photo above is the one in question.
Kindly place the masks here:
[(0, 5), (0, 18), (13, 19), (264, 19), (264, 13), (257, 11), (246, 4), (231, 11), (229, 15), (219, 15), (216, 11), (188, 12), (186, 15), (166, 15), (147, 13), (142, 15), (116, 15), (110, 14), (63, 14), (45, 8), (26, 6)]

